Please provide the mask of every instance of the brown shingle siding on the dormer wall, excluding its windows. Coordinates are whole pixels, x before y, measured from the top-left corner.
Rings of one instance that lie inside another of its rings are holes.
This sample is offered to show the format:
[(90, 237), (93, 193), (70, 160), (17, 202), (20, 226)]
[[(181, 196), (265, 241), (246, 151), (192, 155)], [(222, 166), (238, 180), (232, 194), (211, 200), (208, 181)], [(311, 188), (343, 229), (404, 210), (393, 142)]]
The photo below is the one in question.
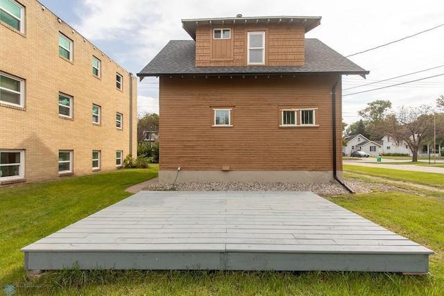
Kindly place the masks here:
[(304, 65), (305, 31), (301, 24), (236, 25), (231, 27), (232, 40), (223, 42), (213, 40), (212, 29), (210, 26), (196, 29), (196, 67), (247, 66), (247, 34), (252, 31), (266, 32), (266, 66)]

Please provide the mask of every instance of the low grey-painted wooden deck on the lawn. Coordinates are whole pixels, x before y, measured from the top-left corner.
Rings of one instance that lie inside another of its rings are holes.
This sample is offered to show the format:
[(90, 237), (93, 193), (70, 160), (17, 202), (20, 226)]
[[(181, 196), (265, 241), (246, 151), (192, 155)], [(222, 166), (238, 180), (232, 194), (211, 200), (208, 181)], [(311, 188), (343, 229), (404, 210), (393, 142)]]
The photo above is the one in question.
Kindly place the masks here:
[(310, 192), (141, 191), (22, 249), (26, 270), (429, 271), (426, 247)]

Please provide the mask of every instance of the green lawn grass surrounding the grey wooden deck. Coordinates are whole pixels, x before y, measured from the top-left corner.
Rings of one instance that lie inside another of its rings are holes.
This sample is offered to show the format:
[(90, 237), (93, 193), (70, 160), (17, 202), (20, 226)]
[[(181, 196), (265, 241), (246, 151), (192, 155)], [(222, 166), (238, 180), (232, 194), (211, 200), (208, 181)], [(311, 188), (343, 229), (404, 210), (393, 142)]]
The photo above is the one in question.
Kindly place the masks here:
[[(345, 173), (359, 173), (366, 182), (379, 182), (368, 175), (375, 172), (364, 174), (359, 168), (346, 166)], [(38, 279), (26, 277), (21, 247), (126, 198), (130, 193), (123, 189), (156, 173), (155, 168), (123, 170), (1, 189), (0, 288), (13, 284), (17, 295), (442, 295), (444, 200), (426, 190), (375, 191), (329, 199), (434, 250), (429, 277), (378, 272), (205, 270), (63, 270)], [(434, 174), (425, 175), (418, 176), (418, 182), (429, 179), (435, 180), (429, 181), (430, 186), (442, 184)], [(391, 182), (401, 176), (396, 170), (384, 170), (378, 177)]]

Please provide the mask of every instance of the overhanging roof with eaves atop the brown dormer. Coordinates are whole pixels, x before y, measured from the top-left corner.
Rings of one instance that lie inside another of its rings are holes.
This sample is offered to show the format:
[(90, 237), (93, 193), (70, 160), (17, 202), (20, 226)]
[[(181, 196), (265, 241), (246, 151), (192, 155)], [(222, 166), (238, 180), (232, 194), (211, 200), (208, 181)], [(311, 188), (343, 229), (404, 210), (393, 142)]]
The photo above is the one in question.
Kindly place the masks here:
[(196, 40), (198, 26), (237, 26), (245, 24), (302, 24), (305, 33), (321, 24), (321, 17), (222, 17), (215, 19), (182, 19), (182, 27)]

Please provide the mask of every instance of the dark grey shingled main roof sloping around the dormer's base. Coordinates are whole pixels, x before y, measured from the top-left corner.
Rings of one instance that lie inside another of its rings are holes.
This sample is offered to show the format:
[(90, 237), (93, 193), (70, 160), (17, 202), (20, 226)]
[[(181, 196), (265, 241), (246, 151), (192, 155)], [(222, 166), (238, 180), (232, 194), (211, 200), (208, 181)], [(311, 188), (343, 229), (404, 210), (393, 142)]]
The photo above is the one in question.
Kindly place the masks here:
[(305, 39), (305, 65), (300, 67), (196, 67), (196, 42), (171, 40), (137, 76), (239, 76), (341, 74), (365, 76), (369, 71), (317, 39)]

